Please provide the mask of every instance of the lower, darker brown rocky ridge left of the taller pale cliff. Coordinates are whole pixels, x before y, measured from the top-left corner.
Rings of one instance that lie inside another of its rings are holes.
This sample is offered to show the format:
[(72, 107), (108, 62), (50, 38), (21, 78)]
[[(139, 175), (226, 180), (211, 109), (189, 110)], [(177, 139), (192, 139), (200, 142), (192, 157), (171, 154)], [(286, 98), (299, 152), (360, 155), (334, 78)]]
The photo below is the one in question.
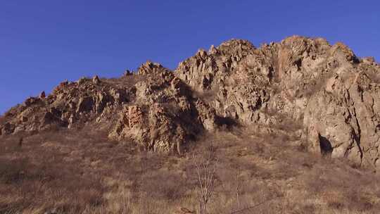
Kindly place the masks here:
[(134, 75), (65, 81), (49, 96), (27, 99), (6, 113), (0, 134), (94, 125), (111, 139), (182, 153), (203, 130), (215, 128), (215, 118), (213, 108), (193, 97), (172, 71), (148, 61)]

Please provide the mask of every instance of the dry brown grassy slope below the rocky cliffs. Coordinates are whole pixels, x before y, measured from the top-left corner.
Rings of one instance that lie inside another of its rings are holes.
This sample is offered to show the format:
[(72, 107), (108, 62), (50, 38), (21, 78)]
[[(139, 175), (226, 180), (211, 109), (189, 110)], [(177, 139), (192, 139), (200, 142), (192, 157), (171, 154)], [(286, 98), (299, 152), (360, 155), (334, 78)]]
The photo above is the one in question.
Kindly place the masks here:
[[(306, 153), (286, 132), (206, 134), (217, 156), (208, 213), (378, 213), (379, 175)], [(288, 131), (289, 132), (289, 131)], [(191, 154), (134, 150), (84, 128), (0, 140), (0, 213), (175, 213), (198, 210)], [(240, 210), (240, 211), (239, 211)]]

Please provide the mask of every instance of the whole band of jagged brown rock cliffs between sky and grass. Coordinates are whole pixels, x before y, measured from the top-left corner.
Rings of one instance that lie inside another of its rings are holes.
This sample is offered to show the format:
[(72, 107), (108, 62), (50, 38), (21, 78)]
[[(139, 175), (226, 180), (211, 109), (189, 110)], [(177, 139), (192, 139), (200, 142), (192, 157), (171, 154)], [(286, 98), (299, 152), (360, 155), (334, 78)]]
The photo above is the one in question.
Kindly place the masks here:
[(311, 151), (376, 165), (379, 73), (373, 58), (325, 39), (293, 36), (259, 49), (232, 39), (174, 72), (147, 62), (119, 79), (63, 82), (8, 111), (0, 134), (93, 125), (118, 141), (182, 153), (202, 132), (241, 125), (291, 132)]

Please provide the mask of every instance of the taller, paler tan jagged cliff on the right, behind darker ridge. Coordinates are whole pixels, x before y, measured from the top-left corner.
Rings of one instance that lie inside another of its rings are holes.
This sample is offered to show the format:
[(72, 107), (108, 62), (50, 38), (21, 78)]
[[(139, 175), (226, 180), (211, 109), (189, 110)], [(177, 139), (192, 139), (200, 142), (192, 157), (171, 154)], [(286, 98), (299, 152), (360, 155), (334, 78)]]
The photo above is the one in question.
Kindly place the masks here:
[(209, 94), (217, 115), (268, 126), (286, 115), (300, 121), (314, 151), (359, 163), (379, 158), (379, 65), (344, 44), (294, 36), (256, 49), (235, 39), (198, 51), (176, 71)]

